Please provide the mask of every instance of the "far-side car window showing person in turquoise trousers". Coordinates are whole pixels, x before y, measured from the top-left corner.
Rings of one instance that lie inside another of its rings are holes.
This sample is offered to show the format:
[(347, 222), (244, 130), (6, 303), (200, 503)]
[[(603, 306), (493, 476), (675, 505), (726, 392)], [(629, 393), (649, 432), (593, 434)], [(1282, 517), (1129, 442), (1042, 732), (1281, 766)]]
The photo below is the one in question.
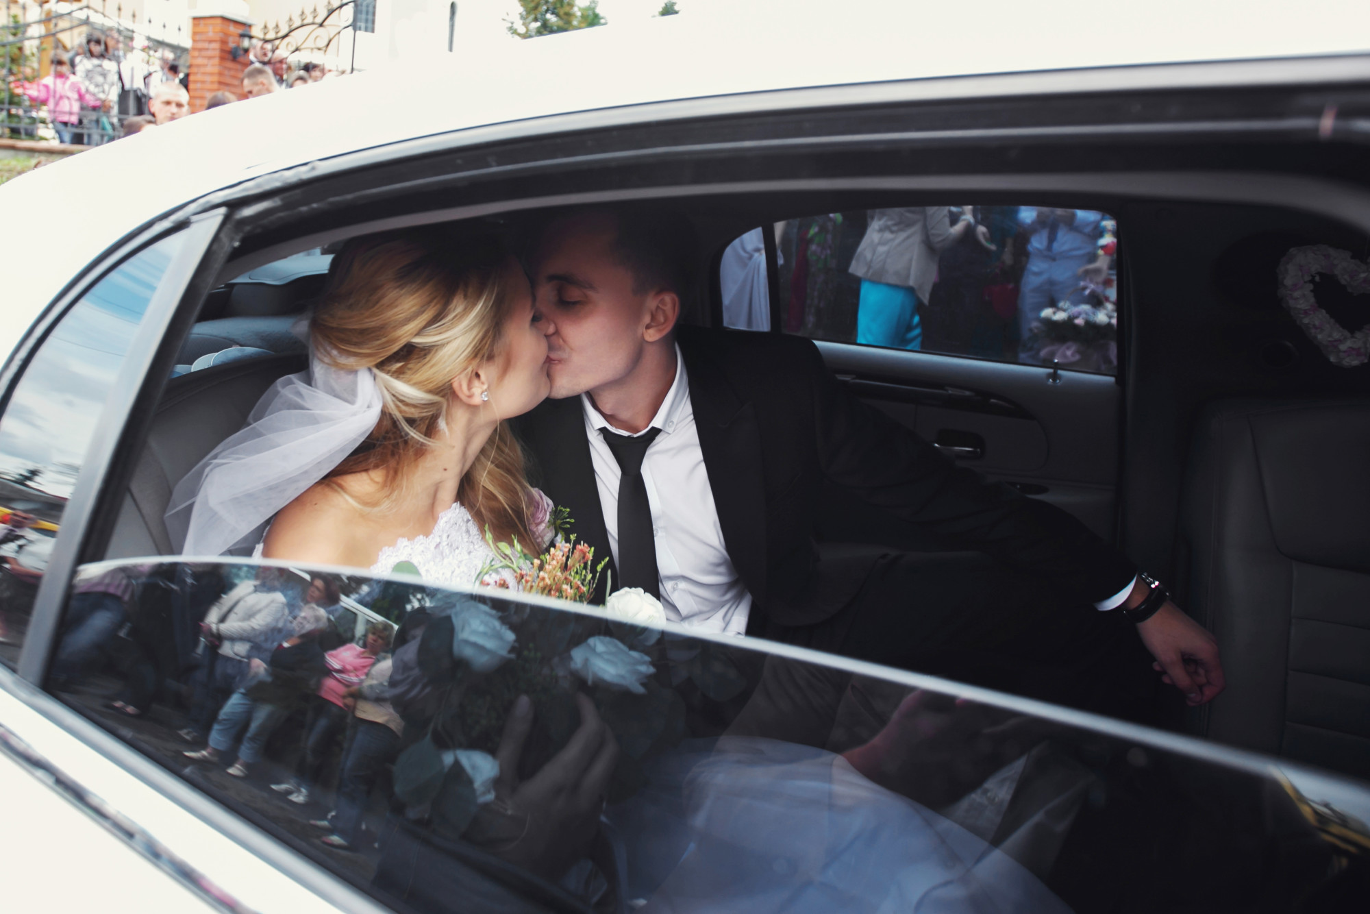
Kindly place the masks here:
[(770, 328), (767, 230), (785, 333), (1117, 373), (1118, 243), (1106, 212), (904, 207), (754, 229), (719, 264), (727, 326)]

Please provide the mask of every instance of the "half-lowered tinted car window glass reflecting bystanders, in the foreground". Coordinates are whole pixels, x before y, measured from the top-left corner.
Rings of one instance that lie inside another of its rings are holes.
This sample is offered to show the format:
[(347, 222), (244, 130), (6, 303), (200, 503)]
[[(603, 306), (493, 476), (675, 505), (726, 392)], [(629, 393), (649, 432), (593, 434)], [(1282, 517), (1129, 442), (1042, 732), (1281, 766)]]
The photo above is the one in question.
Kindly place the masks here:
[(663, 628), (493, 588), (100, 563), (49, 688), (403, 910), (1295, 910), (1366, 878), (1363, 785)]

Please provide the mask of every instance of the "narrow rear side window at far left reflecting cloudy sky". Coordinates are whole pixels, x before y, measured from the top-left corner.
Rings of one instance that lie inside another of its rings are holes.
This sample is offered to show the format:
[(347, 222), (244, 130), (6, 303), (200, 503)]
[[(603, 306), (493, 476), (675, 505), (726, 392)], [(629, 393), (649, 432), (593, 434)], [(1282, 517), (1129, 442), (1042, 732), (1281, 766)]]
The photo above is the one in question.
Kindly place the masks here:
[(58, 322), (0, 418), (0, 660), (14, 665), (38, 580), (105, 397), (152, 293), (184, 245), (174, 234), (97, 282)]

